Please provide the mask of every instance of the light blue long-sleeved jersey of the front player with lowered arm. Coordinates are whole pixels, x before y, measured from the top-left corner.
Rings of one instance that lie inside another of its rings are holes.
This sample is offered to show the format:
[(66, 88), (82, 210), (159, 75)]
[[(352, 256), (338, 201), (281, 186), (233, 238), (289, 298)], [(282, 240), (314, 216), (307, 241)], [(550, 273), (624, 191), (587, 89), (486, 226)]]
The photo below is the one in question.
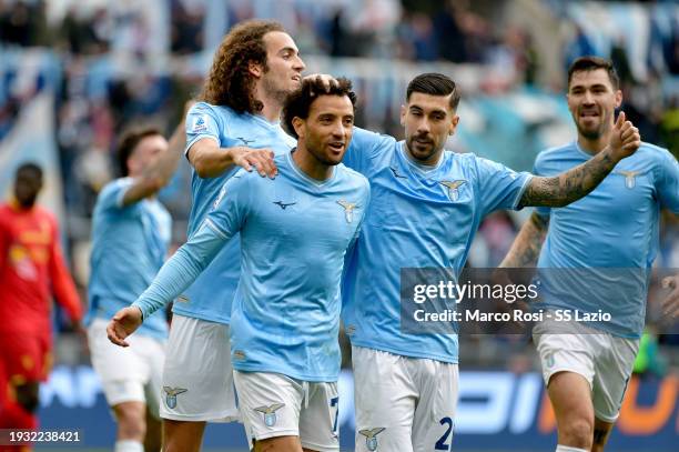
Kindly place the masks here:
[(144, 318), (180, 293), (240, 232), (242, 272), (231, 317), (231, 354), (240, 371), (303, 381), (340, 374), (340, 283), (347, 248), (369, 202), (367, 180), (343, 164), (318, 182), (291, 154), (278, 175), (239, 171), (215, 208), (134, 304)]

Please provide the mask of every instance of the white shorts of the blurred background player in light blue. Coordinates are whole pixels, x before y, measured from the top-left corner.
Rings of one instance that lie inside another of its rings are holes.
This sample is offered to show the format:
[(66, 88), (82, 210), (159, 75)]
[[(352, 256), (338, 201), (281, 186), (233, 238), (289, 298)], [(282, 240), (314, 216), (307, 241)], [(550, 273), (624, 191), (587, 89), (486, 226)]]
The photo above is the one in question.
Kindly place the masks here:
[(88, 329), (92, 366), (99, 374), (110, 406), (123, 402), (143, 402), (158, 418), (164, 341), (132, 334), (130, 346), (114, 345), (107, 337), (108, 321), (94, 319)]

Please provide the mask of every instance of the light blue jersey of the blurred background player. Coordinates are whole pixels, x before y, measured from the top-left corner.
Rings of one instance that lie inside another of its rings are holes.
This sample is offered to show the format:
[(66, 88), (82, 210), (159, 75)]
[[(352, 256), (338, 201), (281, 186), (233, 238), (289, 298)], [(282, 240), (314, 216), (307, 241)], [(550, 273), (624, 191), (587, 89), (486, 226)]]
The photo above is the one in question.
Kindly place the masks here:
[[(168, 253), (172, 234), (170, 213), (155, 199), (122, 207), (132, 183), (131, 178), (110, 182), (94, 205), (85, 324), (95, 318), (110, 320), (136, 300), (151, 284)], [(168, 335), (164, 313), (152, 315), (139, 333), (164, 339)]]

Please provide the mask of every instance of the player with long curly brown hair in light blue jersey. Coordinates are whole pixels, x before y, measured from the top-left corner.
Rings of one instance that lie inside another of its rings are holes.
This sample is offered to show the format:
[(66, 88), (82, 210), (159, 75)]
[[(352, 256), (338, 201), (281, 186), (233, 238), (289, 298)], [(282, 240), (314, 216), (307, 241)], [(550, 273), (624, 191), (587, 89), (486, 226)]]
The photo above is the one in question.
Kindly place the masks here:
[[(194, 169), (190, 238), (240, 167), (275, 175), (274, 154), (295, 142), (280, 125), (283, 101), (300, 87), (303, 69), (277, 22), (242, 22), (225, 36), (185, 121)], [(229, 323), (240, 257), (236, 234), (174, 303), (160, 408), (165, 452), (199, 451), (206, 421), (237, 419)]]

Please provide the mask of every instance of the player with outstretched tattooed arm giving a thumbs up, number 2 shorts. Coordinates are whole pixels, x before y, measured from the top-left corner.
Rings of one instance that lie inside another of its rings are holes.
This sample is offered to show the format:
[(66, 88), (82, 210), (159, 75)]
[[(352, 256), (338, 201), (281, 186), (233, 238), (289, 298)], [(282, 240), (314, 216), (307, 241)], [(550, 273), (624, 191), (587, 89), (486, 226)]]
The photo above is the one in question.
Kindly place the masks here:
[(498, 209), (566, 205), (638, 147), (622, 118), (597, 158), (551, 178), (517, 173), (473, 153), (445, 152), (459, 92), (444, 74), (413, 79), (405, 140), (356, 129), (345, 164), (371, 181), (372, 202), (347, 263), (343, 320), (352, 342), (357, 451), (449, 448), (457, 404), (457, 337), (402, 330), (401, 270), (459, 274), (482, 219)]

